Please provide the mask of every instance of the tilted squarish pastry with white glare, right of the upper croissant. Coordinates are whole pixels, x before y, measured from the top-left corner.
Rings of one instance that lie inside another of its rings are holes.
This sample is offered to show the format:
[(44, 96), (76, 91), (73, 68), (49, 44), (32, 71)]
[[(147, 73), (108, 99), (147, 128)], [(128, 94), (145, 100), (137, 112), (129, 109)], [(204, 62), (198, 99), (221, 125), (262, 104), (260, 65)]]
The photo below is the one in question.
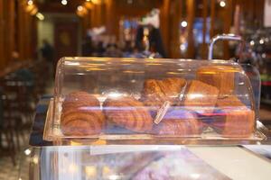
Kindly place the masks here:
[(183, 105), (195, 112), (213, 112), (217, 103), (219, 90), (198, 80), (192, 80), (184, 94)]

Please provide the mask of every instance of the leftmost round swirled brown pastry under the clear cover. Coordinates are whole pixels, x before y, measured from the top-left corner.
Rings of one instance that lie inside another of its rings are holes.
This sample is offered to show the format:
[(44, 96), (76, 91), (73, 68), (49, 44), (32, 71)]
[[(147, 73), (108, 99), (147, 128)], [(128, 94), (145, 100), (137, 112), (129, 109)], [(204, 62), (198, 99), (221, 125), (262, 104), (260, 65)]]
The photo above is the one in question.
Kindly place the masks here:
[(105, 117), (95, 96), (80, 91), (66, 96), (61, 112), (61, 131), (64, 135), (95, 135), (104, 127)]

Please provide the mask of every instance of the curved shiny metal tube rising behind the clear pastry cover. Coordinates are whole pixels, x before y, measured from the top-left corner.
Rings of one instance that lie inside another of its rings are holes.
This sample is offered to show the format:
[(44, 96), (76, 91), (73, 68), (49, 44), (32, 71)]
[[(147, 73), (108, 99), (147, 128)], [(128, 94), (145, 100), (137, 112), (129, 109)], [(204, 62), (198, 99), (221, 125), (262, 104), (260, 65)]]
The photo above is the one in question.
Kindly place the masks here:
[[(241, 43), (240, 55), (241, 55), (241, 52), (244, 49), (245, 41), (242, 39), (241, 36), (235, 35), (235, 34), (219, 34), (219, 35), (214, 36), (210, 40), (209, 52), (208, 52), (208, 59), (209, 60), (212, 59), (213, 45), (218, 40), (237, 40), (237, 41), (239, 41)], [(240, 56), (240, 58), (241, 58), (241, 56)]]

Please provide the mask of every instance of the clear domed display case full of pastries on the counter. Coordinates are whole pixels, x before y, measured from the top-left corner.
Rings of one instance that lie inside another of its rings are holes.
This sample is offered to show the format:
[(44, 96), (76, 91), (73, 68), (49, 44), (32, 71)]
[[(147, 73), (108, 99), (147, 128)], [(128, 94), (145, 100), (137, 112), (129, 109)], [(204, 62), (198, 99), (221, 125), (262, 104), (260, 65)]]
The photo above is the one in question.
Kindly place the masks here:
[(43, 139), (265, 139), (257, 120), (233, 61), (61, 58)]

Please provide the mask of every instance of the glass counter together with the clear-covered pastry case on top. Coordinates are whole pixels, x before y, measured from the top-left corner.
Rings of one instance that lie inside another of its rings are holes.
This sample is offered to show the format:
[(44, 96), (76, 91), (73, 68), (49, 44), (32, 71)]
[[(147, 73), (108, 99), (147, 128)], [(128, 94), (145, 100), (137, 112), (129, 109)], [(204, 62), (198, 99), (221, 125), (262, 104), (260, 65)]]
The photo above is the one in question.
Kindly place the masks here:
[(270, 179), (270, 136), (238, 63), (62, 58), (55, 83), (30, 179)]

